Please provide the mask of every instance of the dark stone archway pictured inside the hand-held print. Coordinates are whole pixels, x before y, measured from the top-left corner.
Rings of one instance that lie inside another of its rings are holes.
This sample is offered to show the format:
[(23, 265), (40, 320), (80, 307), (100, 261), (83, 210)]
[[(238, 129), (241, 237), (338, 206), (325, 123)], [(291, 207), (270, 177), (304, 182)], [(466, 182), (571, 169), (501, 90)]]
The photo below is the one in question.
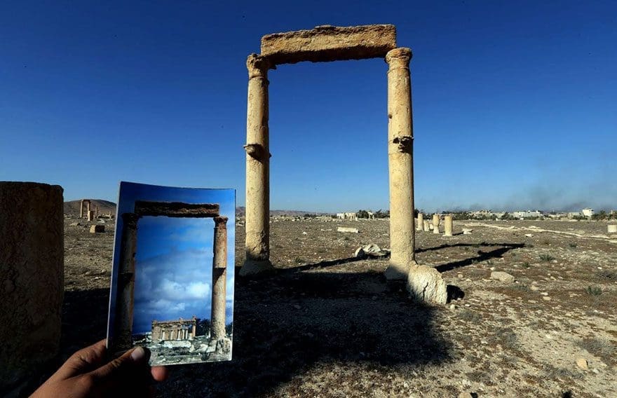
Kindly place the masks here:
[[(112, 352), (132, 348), (133, 294), (135, 289), (135, 254), (137, 252), (137, 222), (141, 217), (212, 218), (215, 221), (212, 243), (212, 322), (211, 337), (225, 337), (225, 296), (227, 277), (227, 217), (220, 216), (218, 203), (180, 203), (135, 201), (133, 213), (121, 214), (123, 226), (120, 266), (116, 282), (116, 316), (114, 333), (109, 336)], [(193, 334), (195, 332), (193, 331)]]

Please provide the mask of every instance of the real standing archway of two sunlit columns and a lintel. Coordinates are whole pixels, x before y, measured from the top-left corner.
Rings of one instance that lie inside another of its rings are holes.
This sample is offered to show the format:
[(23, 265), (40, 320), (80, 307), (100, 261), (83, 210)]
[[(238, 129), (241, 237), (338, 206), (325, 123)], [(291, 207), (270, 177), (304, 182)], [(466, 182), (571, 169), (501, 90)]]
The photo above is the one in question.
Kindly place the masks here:
[(388, 63), (390, 266), (388, 279), (406, 279), (414, 258), (414, 172), (409, 48), (397, 48), (393, 25), (320, 26), (262, 37), (261, 54), (248, 56), (246, 136), (246, 259), (240, 275), (270, 262), (270, 150), (268, 70), (277, 64), (384, 57)]

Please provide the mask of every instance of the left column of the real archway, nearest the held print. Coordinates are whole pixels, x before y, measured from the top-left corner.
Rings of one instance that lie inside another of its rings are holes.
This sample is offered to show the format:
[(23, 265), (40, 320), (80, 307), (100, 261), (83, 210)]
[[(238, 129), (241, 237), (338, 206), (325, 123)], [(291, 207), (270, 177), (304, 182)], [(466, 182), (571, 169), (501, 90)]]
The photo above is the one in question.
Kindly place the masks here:
[(265, 57), (251, 54), (246, 116), (246, 259), (240, 275), (272, 268), (270, 263), (270, 144), (268, 69)]

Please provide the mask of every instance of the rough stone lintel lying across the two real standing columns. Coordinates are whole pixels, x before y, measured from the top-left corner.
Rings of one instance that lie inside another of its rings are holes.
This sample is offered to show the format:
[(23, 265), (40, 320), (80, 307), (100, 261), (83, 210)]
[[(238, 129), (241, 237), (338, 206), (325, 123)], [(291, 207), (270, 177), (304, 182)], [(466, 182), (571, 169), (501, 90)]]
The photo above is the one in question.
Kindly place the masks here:
[(262, 54), (272, 64), (363, 60), (385, 57), (396, 48), (394, 25), (334, 27), (323, 25), (310, 30), (266, 34)]

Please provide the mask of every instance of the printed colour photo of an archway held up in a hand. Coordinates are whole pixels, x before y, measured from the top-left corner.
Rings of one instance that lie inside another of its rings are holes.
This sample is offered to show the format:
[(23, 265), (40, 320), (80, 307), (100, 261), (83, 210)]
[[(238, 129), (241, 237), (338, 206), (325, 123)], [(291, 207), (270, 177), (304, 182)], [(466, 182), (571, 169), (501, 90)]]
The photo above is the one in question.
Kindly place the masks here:
[(109, 352), (231, 360), (236, 191), (123, 181), (117, 211)]

